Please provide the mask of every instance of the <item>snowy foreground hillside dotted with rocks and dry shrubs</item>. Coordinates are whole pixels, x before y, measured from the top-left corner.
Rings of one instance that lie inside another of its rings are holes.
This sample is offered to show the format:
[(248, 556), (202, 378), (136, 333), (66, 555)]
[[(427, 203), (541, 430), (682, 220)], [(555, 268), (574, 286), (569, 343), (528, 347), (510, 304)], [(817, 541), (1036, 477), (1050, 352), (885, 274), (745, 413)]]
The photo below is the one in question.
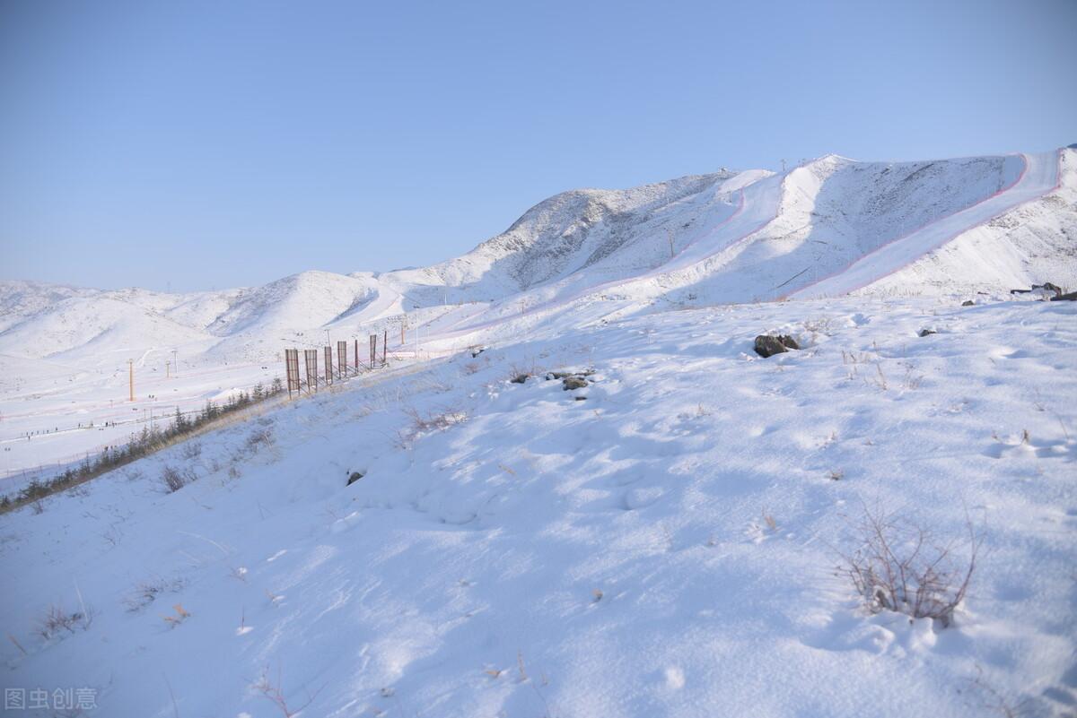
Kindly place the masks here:
[[(89, 687), (108, 716), (282, 715), (277, 690), (311, 718), (1064, 715), (1075, 319), (551, 317), (292, 402), (0, 517), (0, 683)], [(768, 330), (806, 348), (758, 359)], [(574, 392), (507, 380), (585, 367)], [(165, 465), (199, 478), (165, 494)], [(865, 503), (943, 536), (971, 517), (955, 626), (870, 616), (835, 575)], [(51, 604), (92, 621), (42, 638)]]

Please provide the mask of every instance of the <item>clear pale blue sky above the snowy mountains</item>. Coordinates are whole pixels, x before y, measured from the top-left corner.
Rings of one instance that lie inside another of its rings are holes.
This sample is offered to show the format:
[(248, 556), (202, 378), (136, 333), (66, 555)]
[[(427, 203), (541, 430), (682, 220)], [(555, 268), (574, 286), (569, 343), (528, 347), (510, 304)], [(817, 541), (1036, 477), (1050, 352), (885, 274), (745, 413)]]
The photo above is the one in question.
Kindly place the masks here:
[(3, 0), (0, 278), (389, 270), (575, 187), (1050, 149), (1075, 29), (1075, 0)]

